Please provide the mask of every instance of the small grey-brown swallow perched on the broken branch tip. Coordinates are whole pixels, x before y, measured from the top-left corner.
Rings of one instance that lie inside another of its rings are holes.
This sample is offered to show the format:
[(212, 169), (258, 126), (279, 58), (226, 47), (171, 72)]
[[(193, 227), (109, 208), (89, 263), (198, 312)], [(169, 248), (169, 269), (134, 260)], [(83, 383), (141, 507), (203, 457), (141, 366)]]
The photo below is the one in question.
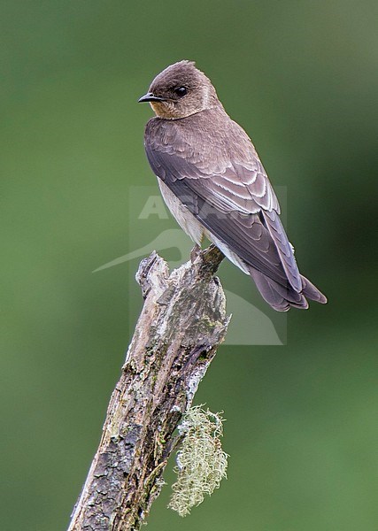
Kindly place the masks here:
[(251, 138), (228, 116), (194, 61), (169, 65), (138, 100), (155, 113), (144, 148), (174, 218), (199, 249), (204, 238), (244, 273), (274, 310), (327, 298), (299, 273), (280, 204)]

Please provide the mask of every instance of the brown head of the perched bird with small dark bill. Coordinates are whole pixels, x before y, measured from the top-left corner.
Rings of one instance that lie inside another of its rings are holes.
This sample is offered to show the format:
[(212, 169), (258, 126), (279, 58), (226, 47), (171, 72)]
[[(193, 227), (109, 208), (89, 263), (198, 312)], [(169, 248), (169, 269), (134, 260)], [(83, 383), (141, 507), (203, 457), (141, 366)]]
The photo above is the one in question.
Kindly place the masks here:
[(155, 114), (164, 119), (186, 118), (220, 105), (212, 82), (193, 61), (168, 66), (156, 76), (139, 102), (149, 102)]

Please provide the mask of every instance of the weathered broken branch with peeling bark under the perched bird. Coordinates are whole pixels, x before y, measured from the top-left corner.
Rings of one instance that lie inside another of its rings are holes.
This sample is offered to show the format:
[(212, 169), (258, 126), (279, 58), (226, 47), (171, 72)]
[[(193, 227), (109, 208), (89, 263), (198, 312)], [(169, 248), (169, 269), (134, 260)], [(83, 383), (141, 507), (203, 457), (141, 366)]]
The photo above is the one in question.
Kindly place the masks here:
[(226, 300), (212, 276), (222, 258), (211, 246), (171, 274), (156, 252), (141, 262), (143, 310), (68, 531), (131, 531), (146, 519), (174, 430), (226, 335)]

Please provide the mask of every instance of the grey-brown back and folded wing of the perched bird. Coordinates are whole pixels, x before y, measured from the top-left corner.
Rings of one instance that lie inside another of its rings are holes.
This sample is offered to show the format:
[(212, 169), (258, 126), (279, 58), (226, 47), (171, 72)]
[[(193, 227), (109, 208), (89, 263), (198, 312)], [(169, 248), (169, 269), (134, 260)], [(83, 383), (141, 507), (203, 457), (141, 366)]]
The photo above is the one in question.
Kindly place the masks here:
[(186, 120), (185, 128), (181, 120), (150, 120), (145, 149), (154, 173), (246, 264), (301, 291), (277, 197), (248, 136), (228, 119), (230, 129), (214, 146), (209, 117), (203, 127), (190, 128)]

